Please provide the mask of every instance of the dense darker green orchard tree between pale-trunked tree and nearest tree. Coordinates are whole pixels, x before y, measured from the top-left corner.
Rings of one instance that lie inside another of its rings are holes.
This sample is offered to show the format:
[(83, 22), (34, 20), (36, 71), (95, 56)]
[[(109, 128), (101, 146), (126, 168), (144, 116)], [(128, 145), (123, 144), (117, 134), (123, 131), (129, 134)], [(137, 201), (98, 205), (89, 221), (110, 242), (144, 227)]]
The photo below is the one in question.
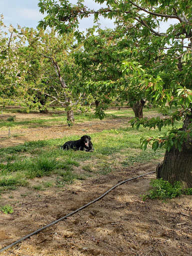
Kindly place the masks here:
[[(135, 117), (142, 118), (146, 97), (139, 84), (144, 70), (135, 62), (138, 56), (132, 50), (134, 45), (127, 36), (119, 38), (118, 29), (99, 28), (95, 31), (95, 28), (87, 29), (83, 47), (75, 53), (75, 61), (82, 69), (87, 93), (101, 103), (96, 106), (96, 114), (102, 118), (104, 104), (115, 98), (121, 104), (126, 101)], [(131, 59), (132, 64), (128, 75), (127, 68), (122, 68), (126, 58)]]

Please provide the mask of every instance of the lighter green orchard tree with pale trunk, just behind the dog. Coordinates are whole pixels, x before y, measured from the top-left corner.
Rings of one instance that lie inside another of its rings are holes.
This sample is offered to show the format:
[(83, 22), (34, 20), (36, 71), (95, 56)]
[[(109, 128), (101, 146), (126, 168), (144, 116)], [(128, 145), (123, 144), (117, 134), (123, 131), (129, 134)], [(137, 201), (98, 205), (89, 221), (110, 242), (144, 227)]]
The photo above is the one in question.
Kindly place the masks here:
[[(83, 88), (78, 86), (80, 69), (74, 65), (73, 53), (78, 49), (73, 33), (58, 35), (53, 30), (22, 29), (30, 61), (27, 82), (34, 101), (45, 105), (56, 103), (65, 108), (68, 123), (74, 122), (73, 110), (83, 108)], [(86, 98), (87, 101), (87, 98)]]

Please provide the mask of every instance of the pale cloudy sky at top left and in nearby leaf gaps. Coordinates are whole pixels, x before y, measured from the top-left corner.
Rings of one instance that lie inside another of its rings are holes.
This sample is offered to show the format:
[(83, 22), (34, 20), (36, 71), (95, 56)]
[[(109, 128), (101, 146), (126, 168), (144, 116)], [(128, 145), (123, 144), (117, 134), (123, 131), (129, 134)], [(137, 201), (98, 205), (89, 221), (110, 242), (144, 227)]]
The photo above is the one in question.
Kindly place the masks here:
[[(76, 0), (69, 0), (75, 4)], [(14, 27), (18, 25), (33, 27), (38, 25), (38, 21), (43, 18), (39, 12), (38, 0), (0, 0), (0, 13), (4, 16), (5, 25), (12, 24)], [(99, 8), (100, 4), (96, 4), (93, 0), (85, 0), (85, 5), (89, 8)], [(113, 27), (111, 20), (106, 20), (100, 17), (101, 28)], [(92, 18), (86, 18), (80, 21), (79, 28), (85, 31), (86, 28), (93, 25)]]

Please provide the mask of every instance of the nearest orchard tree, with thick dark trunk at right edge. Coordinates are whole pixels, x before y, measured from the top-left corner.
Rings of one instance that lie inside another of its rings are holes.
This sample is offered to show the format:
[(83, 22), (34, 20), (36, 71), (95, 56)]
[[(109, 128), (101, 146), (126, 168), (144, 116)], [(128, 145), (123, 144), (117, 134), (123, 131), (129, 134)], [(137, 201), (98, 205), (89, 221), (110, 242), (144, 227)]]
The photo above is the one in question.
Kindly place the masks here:
[[(166, 148), (164, 161), (156, 169), (157, 177), (171, 183), (179, 180), (185, 187), (192, 187), (192, 1), (191, 0), (94, 0), (105, 3), (98, 10), (88, 9), (83, 0), (75, 5), (68, 0), (39, 0), (40, 11), (46, 11), (46, 17), (39, 26), (54, 26), (58, 32), (70, 32), (78, 27), (78, 20), (93, 14), (95, 20), (102, 15), (114, 18), (119, 36), (131, 34), (131, 40), (137, 47), (138, 55), (148, 59), (142, 65), (145, 88), (155, 103), (179, 107), (167, 118), (136, 119), (132, 125), (158, 127), (173, 125), (182, 121), (182, 127), (173, 128), (166, 136), (142, 139), (145, 149), (148, 142), (152, 148)], [(161, 27), (163, 29), (161, 30)], [(141, 59), (142, 60), (142, 59)], [(125, 60), (124, 71), (131, 69)]]

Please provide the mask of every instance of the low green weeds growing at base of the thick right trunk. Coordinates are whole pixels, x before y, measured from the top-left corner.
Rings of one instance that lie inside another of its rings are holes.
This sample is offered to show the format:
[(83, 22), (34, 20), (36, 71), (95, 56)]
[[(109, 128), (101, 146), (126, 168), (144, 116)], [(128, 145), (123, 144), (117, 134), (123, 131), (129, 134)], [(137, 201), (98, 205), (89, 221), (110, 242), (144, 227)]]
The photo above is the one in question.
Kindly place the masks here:
[(181, 194), (192, 194), (192, 188), (183, 188), (179, 181), (175, 181), (171, 185), (167, 180), (163, 180), (162, 178), (151, 179), (150, 185), (153, 186), (153, 189), (142, 195), (142, 200), (146, 200), (146, 198), (164, 200), (166, 198), (180, 196)]

